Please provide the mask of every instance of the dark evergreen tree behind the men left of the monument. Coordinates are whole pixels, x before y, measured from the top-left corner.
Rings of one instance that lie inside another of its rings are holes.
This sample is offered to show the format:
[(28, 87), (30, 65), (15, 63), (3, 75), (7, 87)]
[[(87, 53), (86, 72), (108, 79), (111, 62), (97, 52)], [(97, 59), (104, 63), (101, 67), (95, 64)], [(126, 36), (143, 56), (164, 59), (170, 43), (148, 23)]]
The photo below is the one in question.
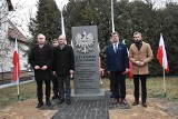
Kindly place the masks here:
[(43, 33), (47, 41), (58, 38), (61, 32), (60, 11), (53, 0), (39, 0), (36, 19), (31, 18), (29, 30), (36, 42), (37, 34)]

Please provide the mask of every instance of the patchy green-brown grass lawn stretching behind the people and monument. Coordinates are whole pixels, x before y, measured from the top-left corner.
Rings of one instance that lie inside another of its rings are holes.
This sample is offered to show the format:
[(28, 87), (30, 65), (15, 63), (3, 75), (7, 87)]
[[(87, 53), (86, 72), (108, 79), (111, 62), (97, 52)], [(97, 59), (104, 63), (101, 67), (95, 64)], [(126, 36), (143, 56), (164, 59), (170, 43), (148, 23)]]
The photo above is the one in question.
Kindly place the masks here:
[[(102, 79), (101, 88), (109, 89), (109, 79)], [(162, 78), (148, 78), (147, 90), (149, 98), (164, 98)], [(178, 101), (178, 77), (167, 77), (167, 98), (168, 100)], [(71, 87), (73, 87), (71, 85)], [(36, 82), (30, 82), (20, 86), (20, 99), (27, 100), (36, 98)], [(132, 81), (127, 79), (127, 93), (132, 93)], [(17, 98), (17, 87), (0, 89), (0, 108), (4, 108), (13, 102), (19, 101)]]

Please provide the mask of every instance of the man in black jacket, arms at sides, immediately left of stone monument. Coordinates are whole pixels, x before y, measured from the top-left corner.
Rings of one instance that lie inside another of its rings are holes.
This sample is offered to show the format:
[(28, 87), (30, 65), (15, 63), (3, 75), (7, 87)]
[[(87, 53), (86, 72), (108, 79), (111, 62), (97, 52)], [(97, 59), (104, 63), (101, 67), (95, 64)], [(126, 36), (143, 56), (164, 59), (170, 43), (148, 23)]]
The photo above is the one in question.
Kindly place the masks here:
[[(70, 75), (75, 70), (75, 56), (73, 50), (70, 46), (67, 46), (65, 36), (59, 36), (59, 46), (53, 50), (53, 75), (57, 75), (59, 82), (59, 105), (65, 102), (65, 91), (66, 91), (66, 102), (71, 103), (71, 89), (70, 89)], [(65, 86), (63, 86), (65, 85)], [(65, 88), (66, 89), (65, 89)]]

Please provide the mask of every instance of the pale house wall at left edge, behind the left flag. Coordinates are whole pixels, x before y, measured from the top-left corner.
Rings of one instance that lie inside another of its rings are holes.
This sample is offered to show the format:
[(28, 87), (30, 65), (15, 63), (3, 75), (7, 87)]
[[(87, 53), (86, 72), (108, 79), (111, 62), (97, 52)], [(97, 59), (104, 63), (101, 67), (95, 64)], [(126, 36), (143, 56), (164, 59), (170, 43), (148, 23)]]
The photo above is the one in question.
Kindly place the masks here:
[[(7, 0), (0, 0), (0, 72), (11, 71), (14, 41), (8, 39), (8, 3)], [(28, 57), (24, 56), (28, 47), (24, 43), (19, 44), (20, 69), (27, 70)]]

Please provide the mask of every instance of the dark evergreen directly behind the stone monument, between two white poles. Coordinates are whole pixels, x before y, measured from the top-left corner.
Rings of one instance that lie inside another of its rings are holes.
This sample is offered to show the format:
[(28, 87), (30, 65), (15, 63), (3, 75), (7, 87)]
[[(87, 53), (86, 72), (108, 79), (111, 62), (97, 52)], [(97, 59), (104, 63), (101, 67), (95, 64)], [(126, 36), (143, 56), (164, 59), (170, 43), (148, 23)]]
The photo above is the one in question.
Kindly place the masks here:
[(107, 46), (111, 33), (110, 0), (70, 0), (63, 14), (68, 39), (71, 27), (97, 26), (100, 47)]

